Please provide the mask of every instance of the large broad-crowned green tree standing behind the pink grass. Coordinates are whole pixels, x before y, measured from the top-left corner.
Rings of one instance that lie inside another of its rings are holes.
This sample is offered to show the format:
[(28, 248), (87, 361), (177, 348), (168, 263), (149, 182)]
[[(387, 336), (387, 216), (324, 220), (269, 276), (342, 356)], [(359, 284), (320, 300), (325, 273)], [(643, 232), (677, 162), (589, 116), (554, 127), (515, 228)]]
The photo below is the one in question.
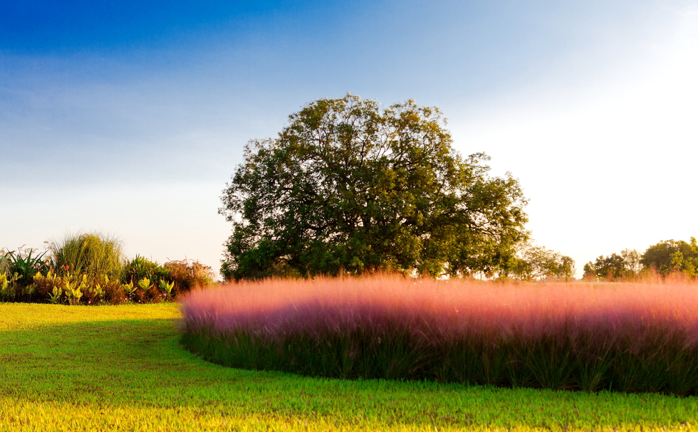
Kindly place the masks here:
[(436, 107), (346, 95), (251, 140), (219, 209), (224, 277), (501, 270), (527, 238), (526, 199), (485, 154), (455, 152), (445, 125)]

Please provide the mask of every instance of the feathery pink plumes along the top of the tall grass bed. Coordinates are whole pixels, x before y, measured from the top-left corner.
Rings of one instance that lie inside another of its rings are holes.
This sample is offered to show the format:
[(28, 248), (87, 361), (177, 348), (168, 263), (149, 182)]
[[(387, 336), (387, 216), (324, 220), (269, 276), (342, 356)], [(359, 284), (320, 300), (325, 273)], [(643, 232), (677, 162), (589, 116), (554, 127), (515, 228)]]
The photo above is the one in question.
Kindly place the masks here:
[[(265, 280), (197, 290), (185, 297), (189, 325), (219, 332), (274, 334), (287, 325), (313, 332), (380, 324), (387, 317), (446, 336), (496, 330), (536, 337), (613, 330), (638, 343), (660, 325), (698, 343), (695, 283), (482, 283), (462, 280), (345, 278)], [(259, 326), (259, 327), (258, 327)], [(320, 327), (318, 327), (320, 326)], [(570, 328), (572, 326), (572, 328)]]

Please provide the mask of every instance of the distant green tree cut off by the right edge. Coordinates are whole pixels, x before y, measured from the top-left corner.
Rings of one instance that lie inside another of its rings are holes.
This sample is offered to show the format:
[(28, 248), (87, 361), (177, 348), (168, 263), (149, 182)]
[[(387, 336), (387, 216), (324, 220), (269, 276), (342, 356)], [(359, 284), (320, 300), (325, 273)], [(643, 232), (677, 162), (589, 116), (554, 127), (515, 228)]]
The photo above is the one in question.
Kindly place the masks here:
[(698, 244), (691, 237), (690, 243), (679, 240), (660, 241), (647, 248), (640, 263), (645, 268), (654, 268), (662, 275), (672, 272), (698, 275)]

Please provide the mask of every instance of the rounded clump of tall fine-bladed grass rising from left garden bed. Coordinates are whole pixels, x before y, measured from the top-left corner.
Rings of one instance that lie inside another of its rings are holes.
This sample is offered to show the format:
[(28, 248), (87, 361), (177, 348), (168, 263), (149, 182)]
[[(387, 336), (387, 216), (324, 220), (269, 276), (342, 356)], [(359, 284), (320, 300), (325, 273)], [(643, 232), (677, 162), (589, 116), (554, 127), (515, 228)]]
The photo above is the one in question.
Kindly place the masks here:
[(61, 272), (118, 278), (123, 268), (121, 241), (102, 233), (70, 234), (61, 243), (51, 245), (51, 249)]

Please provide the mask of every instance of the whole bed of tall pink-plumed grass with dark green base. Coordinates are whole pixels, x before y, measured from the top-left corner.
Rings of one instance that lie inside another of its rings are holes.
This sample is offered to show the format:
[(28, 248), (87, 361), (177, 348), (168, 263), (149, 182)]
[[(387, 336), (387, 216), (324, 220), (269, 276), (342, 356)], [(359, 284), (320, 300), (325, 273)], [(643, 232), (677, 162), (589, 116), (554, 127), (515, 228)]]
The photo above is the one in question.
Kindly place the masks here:
[(698, 285), (264, 280), (189, 293), (182, 342), (244, 369), (696, 394)]

